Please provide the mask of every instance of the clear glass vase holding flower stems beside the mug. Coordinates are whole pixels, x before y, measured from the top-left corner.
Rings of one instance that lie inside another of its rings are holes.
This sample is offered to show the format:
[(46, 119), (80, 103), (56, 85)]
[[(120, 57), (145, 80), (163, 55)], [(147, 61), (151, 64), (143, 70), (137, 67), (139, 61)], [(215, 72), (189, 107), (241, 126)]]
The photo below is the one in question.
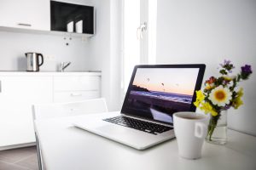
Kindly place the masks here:
[(227, 143), (227, 116), (227, 111), (220, 111), (217, 116), (211, 116), (206, 138), (208, 143)]

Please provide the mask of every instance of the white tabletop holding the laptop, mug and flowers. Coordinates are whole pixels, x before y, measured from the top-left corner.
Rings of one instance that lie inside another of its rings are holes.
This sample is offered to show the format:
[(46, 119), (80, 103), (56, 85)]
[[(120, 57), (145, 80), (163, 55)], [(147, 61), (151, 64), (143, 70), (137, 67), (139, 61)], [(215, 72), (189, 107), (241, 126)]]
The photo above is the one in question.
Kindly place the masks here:
[(228, 143), (205, 143), (202, 158), (178, 156), (176, 139), (148, 150), (131, 147), (73, 127), (87, 116), (68, 116), (35, 121), (47, 170), (255, 170), (256, 138), (228, 130)]

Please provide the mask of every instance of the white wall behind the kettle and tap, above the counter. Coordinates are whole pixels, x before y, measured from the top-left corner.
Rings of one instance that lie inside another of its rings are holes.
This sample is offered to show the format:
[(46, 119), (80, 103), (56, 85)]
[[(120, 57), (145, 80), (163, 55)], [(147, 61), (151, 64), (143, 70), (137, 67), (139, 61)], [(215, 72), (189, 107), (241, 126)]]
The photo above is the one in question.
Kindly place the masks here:
[(26, 52), (44, 55), (40, 71), (55, 71), (62, 61), (72, 62), (67, 70), (89, 70), (89, 42), (79, 37), (64, 40), (61, 36), (0, 31), (0, 71), (26, 71)]

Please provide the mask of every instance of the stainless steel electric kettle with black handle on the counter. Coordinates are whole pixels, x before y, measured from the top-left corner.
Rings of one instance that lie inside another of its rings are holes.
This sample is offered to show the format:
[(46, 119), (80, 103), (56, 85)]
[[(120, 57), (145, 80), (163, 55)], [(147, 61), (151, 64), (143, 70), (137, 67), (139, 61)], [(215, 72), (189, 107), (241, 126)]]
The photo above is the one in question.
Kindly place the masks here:
[[(26, 53), (26, 71), (39, 71), (39, 66), (44, 64), (43, 54)], [(39, 64), (39, 57), (41, 62)]]

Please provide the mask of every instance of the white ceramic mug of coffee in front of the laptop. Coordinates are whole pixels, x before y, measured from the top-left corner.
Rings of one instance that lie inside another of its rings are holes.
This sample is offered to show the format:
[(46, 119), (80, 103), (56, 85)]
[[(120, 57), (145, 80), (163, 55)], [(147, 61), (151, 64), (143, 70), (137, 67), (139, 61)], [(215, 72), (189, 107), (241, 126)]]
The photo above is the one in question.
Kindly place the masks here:
[(206, 115), (195, 112), (173, 114), (179, 156), (187, 159), (201, 158), (201, 148), (207, 135), (207, 122)]

